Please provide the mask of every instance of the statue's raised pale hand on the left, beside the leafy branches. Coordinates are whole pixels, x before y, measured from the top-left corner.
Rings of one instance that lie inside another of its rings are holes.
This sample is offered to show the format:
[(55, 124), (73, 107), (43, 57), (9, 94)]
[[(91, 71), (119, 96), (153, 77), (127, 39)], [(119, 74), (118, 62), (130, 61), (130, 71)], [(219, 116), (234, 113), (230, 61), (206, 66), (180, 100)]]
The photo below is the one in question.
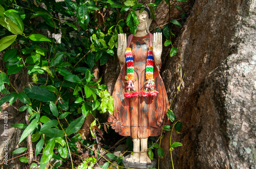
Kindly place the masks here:
[(122, 67), (125, 64), (126, 34), (118, 34), (117, 57)]

